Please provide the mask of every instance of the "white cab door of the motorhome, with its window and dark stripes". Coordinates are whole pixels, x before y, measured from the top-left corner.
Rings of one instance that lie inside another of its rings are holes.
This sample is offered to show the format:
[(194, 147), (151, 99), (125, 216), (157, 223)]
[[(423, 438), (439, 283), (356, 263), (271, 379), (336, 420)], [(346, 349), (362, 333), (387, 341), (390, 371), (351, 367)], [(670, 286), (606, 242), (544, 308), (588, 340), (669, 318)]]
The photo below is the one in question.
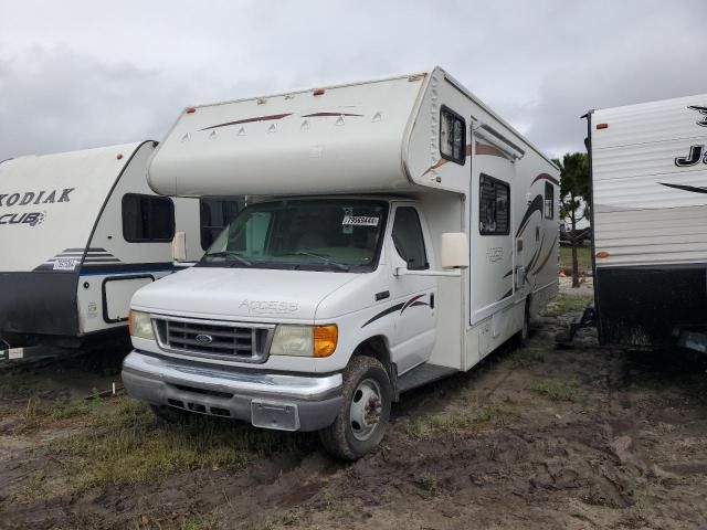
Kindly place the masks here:
[(436, 331), (436, 278), (394, 274), (397, 267), (410, 272), (430, 269), (432, 247), (426, 225), (413, 204), (393, 204), (387, 247), (394, 319), (391, 350), (398, 373), (402, 374), (430, 358)]

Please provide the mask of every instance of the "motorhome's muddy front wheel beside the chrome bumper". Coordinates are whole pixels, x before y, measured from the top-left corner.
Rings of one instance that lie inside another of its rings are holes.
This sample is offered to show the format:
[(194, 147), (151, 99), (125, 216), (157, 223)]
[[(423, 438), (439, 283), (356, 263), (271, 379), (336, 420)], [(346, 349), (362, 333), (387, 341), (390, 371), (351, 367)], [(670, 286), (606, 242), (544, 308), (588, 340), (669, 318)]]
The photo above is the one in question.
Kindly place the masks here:
[(355, 357), (344, 372), (344, 401), (334, 423), (319, 431), (321, 444), (331, 455), (357, 460), (383, 439), (392, 385), (378, 359)]

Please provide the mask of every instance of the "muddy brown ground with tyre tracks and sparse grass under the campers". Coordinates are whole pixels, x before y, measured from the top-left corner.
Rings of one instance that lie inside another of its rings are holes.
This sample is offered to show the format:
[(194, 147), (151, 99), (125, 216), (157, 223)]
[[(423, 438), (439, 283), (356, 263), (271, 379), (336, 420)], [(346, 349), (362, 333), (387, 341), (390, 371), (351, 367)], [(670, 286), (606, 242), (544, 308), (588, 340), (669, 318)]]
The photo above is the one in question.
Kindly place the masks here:
[(707, 360), (556, 349), (574, 316), (404, 395), (355, 464), (314, 435), (84, 400), (119, 354), (4, 371), (0, 528), (707, 528)]

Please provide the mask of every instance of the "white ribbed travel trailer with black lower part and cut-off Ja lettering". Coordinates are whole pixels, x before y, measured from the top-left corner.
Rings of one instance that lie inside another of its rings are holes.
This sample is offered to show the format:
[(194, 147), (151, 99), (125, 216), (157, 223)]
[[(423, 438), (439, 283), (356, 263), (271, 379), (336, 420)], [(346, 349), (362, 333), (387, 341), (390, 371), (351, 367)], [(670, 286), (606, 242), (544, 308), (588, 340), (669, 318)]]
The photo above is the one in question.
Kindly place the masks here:
[(707, 94), (588, 114), (600, 340), (707, 350)]

